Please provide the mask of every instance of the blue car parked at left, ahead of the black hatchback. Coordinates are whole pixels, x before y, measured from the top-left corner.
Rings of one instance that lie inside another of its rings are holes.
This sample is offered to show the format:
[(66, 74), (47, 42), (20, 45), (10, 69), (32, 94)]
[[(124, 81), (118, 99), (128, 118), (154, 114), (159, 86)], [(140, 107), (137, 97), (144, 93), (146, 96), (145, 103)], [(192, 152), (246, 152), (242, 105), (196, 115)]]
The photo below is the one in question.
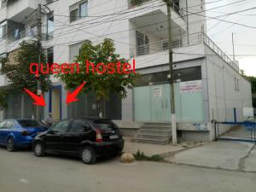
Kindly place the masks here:
[(33, 119), (6, 119), (0, 122), (0, 145), (9, 151), (31, 146), (32, 140), (39, 132), (48, 127)]

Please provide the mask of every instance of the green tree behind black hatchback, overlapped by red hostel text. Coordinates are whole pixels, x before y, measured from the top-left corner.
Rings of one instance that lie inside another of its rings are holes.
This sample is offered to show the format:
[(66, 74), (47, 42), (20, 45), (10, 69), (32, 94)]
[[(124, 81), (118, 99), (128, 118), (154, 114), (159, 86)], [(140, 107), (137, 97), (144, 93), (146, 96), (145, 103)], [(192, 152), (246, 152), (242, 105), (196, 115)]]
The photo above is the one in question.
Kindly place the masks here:
[[(93, 73), (91, 68), (89, 73), (86, 72), (85, 61), (88, 60), (95, 65), (102, 63), (107, 67), (108, 63), (121, 64), (128, 61), (124, 58), (120, 58), (115, 54), (115, 48), (113, 40), (106, 38), (102, 44), (92, 44), (87, 40), (84, 42), (80, 49), (80, 54), (76, 56), (74, 62), (79, 63), (79, 73), (58, 73), (56, 76), (65, 82), (67, 90), (71, 90), (86, 82), (83, 92), (88, 93), (90, 90), (96, 94), (96, 102), (100, 112), (103, 112), (102, 101), (109, 99), (110, 93), (115, 93), (121, 99), (126, 97), (128, 89), (131, 89), (135, 84), (136, 73), (118, 73), (118, 67), (114, 65), (115, 73)], [(121, 67), (122, 71), (123, 67)], [(102, 70), (102, 67), (100, 68)], [(105, 114), (103, 114), (105, 116)]]

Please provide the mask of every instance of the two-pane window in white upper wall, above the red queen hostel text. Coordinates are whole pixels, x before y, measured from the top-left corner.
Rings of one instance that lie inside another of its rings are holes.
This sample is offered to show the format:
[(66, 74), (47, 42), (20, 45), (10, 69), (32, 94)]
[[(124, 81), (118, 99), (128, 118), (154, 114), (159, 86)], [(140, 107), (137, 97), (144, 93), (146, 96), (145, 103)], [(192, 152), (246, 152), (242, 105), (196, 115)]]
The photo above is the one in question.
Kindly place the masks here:
[(88, 1), (82, 1), (70, 7), (70, 22), (82, 19), (88, 15)]

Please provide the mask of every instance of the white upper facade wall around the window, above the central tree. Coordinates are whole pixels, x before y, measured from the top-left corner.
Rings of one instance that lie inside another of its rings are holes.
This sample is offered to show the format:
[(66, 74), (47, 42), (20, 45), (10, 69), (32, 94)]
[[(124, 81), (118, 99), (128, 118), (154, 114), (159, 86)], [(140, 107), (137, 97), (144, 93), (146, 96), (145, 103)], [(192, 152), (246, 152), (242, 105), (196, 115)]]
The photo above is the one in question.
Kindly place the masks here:
[[(69, 61), (69, 45), (76, 44), (86, 39), (90, 39), (93, 43), (102, 43), (104, 38), (113, 38), (116, 44), (116, 53), (119, 53), (126, 58), (129, 57), (129, 24), (128, 20), (117, 20), (113, 16), (109, 16), (106, 22), (106, 17), (95, 18), (90, 17), (100, 15), (110, 15), (118, 11), (127, 9), (126, 1), (92, 1), (89, 0), (89, 17), (81, 20), (69, 22), (69, 6), (79, 1), (64, 1), (60, 0), (53, 5), (55, 15), (55, 32), (54, 32), (54, 57), (55, 62)], [(64, 15), (64, 16), (57, 16)], [(119, 32), (125, 31), (127, 32)], [(119, 32), (115, 34), (109, 34)], [(52, 44), (51, 44), (52, 45)], [(50, 44), (45, 43), (45, 46)]]

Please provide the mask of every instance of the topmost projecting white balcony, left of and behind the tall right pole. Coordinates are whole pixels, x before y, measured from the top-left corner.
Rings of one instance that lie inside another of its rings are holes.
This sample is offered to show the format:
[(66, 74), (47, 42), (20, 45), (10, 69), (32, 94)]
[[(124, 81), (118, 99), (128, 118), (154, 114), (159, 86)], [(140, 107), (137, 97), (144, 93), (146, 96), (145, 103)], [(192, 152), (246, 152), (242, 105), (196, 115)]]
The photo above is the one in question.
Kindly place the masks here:
[[(130, 44), (136, 44), (135, 31), (143, 32), (148, 34), (150, 43), (160, 41), (168, 38), (168, 18), (166, 5), (163, 5), (161, 1), (150, 1), (148, 0), (154, 9), (148, 9), (148, 3), (142, 4), (141, 7), (146, 6), (145, 9), (137, 9), (133, 7), (133, 14), (131, 15), (130, 21)], [(172, 34), (174, 36), (182, 36), (186, 34), (186, 22), (183, 18), (172, 9)], [(133, 38), (133, 39), (132, 39)]]

